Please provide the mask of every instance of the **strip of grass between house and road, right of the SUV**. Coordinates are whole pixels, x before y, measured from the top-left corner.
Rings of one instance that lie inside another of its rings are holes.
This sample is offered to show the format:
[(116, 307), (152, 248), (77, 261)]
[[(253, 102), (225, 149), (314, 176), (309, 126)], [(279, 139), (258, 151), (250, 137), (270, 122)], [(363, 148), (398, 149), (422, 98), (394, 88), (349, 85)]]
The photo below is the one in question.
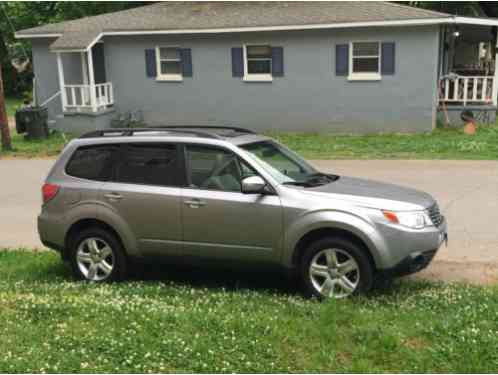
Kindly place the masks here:
[(475, 136), (461, 129), (428, 134), (334, 135), (279, 133), (277, 138), (307, 159), (498, 159), (498, 126), (481, 127)]

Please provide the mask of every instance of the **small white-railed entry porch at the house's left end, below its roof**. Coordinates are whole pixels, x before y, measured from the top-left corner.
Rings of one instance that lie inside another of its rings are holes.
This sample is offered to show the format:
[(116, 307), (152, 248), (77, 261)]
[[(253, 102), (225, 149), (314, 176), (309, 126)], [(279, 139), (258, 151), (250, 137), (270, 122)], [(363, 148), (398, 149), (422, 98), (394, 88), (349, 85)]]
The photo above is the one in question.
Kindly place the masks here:
[(112, 82), (106, 80), (104, 44), (86, 51), (57, 51), (64, 114), (107, 113), (114, 105)]

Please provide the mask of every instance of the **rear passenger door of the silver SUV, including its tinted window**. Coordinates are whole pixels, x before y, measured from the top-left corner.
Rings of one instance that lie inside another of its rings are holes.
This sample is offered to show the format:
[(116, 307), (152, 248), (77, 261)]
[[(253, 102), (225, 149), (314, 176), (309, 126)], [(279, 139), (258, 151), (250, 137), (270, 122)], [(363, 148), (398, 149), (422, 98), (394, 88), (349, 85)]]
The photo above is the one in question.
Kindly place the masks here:
[(103, 183), (101, 214), (121, 223), (144, 255), (181, 253), (180, 163), (175, 144), (123, 144)]

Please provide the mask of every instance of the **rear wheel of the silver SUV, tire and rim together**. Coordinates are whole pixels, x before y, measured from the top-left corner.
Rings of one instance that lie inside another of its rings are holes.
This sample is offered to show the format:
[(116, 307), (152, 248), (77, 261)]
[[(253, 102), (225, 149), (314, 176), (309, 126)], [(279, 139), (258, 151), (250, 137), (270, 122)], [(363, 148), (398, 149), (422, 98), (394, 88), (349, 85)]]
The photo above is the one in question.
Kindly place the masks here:
[(127, 275), (128, 264), (121, 242), (113, 233), (99, 227), (84, 229), (74, 236), (69, 262), (78, 280), (112, 282)]

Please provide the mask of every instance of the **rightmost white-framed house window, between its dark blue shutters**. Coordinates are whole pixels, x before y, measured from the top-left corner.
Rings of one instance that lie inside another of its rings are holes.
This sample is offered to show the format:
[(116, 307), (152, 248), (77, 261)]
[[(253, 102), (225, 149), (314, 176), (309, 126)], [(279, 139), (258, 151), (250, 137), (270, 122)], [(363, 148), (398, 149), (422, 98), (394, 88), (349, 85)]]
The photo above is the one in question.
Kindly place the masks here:
[(349, 79), (378, 80), (380, 75), (380, 43), (351, 43)]

